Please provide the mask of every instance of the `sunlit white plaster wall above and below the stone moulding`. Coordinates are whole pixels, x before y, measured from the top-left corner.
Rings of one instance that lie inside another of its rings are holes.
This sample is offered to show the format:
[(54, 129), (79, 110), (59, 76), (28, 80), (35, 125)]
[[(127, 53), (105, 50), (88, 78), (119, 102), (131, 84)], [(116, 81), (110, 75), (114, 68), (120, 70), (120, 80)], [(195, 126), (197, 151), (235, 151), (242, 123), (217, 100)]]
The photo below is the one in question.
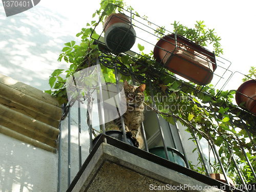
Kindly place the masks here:
[[(32, 9), (10, 17), (6, 17), (0, 3), (0, 73), (39, 90), (49, 90), (48, 79), (53, 70), (67, 69), (66, 62), (57, 61), (64, 44), (78, 40), (76, 34), (90, 22), (99, 2), (44, 0)], [(73, 120), (72, 123), (74, 131), (76, 123)], [(65, 129), (61, 192), (67, 189)], [(72, 162), (78, 161), (75, 133), (72, 132)], [(82, 150), (88, 155), (87, 149)], [(73, 163), (71, 168), (73, 179), (78, 166)], [(57, 174), (58, 154), (0, 134), (1, 192), (57, 191)]]

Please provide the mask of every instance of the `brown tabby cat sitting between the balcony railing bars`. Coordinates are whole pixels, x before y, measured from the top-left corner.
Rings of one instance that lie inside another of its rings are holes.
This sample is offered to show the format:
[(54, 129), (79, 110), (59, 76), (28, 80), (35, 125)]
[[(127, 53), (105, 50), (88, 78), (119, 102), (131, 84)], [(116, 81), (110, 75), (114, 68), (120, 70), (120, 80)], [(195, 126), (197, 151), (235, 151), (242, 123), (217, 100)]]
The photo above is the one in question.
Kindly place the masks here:
[[(125, 93), (127, 110), (123, 114), (123, 120), (125, 125), (125, 131), (130, 135), (136, 146), (139, 148), (144, 147), (144, 140), (141, 134), (141, 122), (144, 119), (144, 90), (146, 85), (131, 86), (126, 80), (123, 81), (123, 89)], [(122, 122), (121, 118), (117, 118), (115, 121), (106, 124), (106, 130), (121, 130)]]

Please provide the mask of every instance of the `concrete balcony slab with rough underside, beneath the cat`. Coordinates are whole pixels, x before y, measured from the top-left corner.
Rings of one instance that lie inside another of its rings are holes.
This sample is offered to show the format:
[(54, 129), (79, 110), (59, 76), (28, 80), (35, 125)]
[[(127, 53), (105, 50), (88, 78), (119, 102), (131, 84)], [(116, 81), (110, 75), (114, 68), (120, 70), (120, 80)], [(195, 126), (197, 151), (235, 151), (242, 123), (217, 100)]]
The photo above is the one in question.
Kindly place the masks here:
[[(157, 187), (165, 187), (161, 191), (223, 191), (107, 143), (101, 143), (83, 166), (67, 192), (150, 191)], [(167, 188), (170, 186), (180, 190)]]

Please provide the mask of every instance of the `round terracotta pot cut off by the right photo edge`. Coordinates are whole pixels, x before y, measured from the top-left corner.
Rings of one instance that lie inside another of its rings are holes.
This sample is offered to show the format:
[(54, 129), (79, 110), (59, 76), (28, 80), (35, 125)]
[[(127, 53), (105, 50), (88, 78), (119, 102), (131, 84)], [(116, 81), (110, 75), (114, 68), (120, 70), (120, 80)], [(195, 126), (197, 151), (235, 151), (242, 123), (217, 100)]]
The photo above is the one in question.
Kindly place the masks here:
[(256, 115), (256, 80), (250, 79), (241, 84), (236, 93), (236, 101), (238, 105), (245, 102), (245, 108)]

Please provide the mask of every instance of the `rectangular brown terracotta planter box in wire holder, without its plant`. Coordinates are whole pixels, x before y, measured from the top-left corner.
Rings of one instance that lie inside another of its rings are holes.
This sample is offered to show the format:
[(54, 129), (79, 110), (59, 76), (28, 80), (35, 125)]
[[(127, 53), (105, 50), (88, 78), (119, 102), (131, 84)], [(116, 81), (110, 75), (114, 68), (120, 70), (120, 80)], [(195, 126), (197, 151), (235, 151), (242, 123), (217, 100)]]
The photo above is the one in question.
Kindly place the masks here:
[(215, 54), (196, 45), (187, 38), (175, 34), (161, 38), (155, 48), (154, 57), (164, 67), (194, 83), (210, 83), (217, 68)]

